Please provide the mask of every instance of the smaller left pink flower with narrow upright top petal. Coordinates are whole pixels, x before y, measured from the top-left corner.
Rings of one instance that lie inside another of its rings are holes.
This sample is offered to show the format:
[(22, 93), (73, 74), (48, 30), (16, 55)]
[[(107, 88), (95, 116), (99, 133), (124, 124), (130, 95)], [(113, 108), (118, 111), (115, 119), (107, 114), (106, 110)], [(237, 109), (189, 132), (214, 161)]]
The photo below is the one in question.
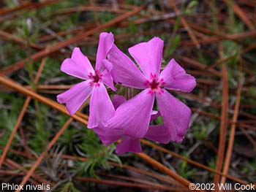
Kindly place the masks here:
[[(71, 58), (66, 58), (61, 64), (62, 72), (84, 81), (59, 94), (57, 100), (61, 104), (65, 103), (69, 114), (73, 115), (91, 95), (88, 128), (104, 124), (106, 120), (113, 116), (115, 111), (105, 88), (105, 85), (108, 85), (113, 91), (116, 91), (110, 74), (113, 66), (104, 62), (113, 46), (113, 42), (112, 33), (101, 33), (99, 35), (95, 71), (89, 59), (81, 53), (78, 47), (73, 50)], [(105, 111), (108, 111), (108, 113)]]

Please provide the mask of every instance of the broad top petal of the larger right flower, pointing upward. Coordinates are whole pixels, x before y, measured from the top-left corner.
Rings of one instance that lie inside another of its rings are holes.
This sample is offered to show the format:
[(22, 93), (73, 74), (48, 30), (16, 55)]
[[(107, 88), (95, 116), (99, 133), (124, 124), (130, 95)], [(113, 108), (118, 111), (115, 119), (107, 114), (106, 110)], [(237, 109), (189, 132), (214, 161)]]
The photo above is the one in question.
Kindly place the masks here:
[(129, 48), (129, 53), (140, 66), (146, 77), (151, 74), (159, 74), (162, 64), (162, 50), (164, 42), (158, 37), (152, 38), (148, 42), (141, 42)]

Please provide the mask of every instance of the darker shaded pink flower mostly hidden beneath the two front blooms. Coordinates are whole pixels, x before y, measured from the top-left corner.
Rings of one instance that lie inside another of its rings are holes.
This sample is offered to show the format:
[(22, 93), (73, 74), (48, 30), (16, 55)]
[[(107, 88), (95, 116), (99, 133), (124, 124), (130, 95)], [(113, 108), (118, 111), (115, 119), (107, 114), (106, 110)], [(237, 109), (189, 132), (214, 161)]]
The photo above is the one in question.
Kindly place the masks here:
[[(113, 105), (117, 109), (121, 104), (126, 101), (124, 96), (113, 96)], [(159, 117), (159, 112), (151, 112), (151, 120)], [(110, 145), (113, 142), (116, 142), (118, 139), (121, 139), (121, 142), (116, 145), (116, 153), (141, 153), (140, 139), (124, 134), (124, 130), (120, 128), (108, 128), (108, 127), (97, 127), (93, 128), (94, 132), (99, 136), (99, 139), (102, 141), (103, 145)], [(147, 139), (168, 143), (170, 142), (170, 136), (167, 134), (163, 125), (149, 126), (146, 135), (144, 136)]]

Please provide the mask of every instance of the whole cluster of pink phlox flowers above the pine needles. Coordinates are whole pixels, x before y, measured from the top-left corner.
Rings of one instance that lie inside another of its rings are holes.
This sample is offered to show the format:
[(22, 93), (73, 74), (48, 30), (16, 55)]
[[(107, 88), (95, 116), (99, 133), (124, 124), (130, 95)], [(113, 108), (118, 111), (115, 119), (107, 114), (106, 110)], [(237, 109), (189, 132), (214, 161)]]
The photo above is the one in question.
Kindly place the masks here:
[[(147, 138), (161, 143), (181, 142), (189, 127), (191, 110), (167, 90), (190, 92), (195, 88), (195, 77), (187, 74), (174, 60), (160, 72), (164, 42), (154, 37), (129, 48), (138, 66), (114, 45), (112, 33), (101, 33), (95, 70), (89, 59), (78, 47), (61, 64), (61, 71), (78, 77), (83, 82), (57, 96), (74, 114), (91, 95), (88, 128), (93, 128), (103, 145), (117, 140), (116, 153), (142, 152), (140, 139)], [(113, 91), (116, 84), (142, 90), (132, 99), (110, 96), (105, 88)], [(157, 100), (157, 109), (153, 110)], [(163, 123), (151, 125), (159, 116)]]

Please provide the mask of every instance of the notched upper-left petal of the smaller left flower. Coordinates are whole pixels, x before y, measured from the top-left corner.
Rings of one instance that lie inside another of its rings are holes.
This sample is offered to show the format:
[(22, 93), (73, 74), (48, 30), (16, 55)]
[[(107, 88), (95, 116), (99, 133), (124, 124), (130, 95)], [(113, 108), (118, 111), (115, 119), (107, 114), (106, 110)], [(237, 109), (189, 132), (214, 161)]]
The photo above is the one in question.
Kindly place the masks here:
[(61, 64), (61, 71), (82, 80), (89, 80), (88, 74), (94, 73), (89, 59), (75, 47), (71, 58), (66, 58)]

